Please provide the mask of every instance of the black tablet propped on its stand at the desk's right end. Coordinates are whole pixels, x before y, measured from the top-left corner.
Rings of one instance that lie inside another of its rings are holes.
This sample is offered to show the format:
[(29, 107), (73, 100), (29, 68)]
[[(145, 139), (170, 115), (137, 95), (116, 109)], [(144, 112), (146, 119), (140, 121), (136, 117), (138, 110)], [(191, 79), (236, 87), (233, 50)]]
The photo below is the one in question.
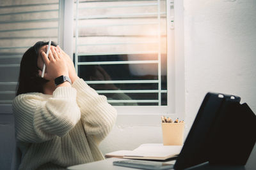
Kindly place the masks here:
[[(233, 126), (237, 124), (227, 124), (227, 121), (239, 122), (243, 120), (243, 113), (245, 113), (247, 115), (246, 118), (250, 118), (250, 125), (244, 125), (243, 128), (247, 129), (247, 131), (250, 129), (252, 135), (255, 136), (256, 116), (250, 108), (244, 104), (239, 104), (239, 102), (240, 97), (237, 96), (210, 92), (206, 94), (179, 157), (177, 157), (174, 169), (185, 169), (208, 161), (211, 164), (233, 164), (237, 159), (234, 159), (236, 155), (233, 155), (232, 158), (231, 155), (234, 152), (230, 152), (230, 150), (236, 150), (236, 148), (233, 148), (234, 146), (247, 144), (242, 153), (243, 155), (239, 156), (239, 158), (243, 157), (243, 160), (239, 163), (246, 163), (255, 144), (255, 138), (251, 136), (243, 142), (239, 140), (240, 143), (232, 141), (234, 140), (234, 134), (236, 134), (234, 131), (237, 131), (238, 128), (233, 129)], [(233, 112), (236, 113), (235, 117), (232, 117)], [(230, 117), (232, 118), (230, 119)], [(226, 130), (223, 131), (223, 129)], [(245, 131), (244, 129), (243, 131)], [(226, 133), (230, 133), (230, 135)], [(241, 138), (241, 135), (243, 134), (239, 131), (236, 138), (238, 136)], [(222, 143), (221, 140), (225, 141), (225, 143)], [(230, 142), (233, 142), (233, 144), (230, 145)], [(225, 148), (228, 149), (225, 150)], [(230, 157), (228, 159), (220, 157), (223, 153)]]

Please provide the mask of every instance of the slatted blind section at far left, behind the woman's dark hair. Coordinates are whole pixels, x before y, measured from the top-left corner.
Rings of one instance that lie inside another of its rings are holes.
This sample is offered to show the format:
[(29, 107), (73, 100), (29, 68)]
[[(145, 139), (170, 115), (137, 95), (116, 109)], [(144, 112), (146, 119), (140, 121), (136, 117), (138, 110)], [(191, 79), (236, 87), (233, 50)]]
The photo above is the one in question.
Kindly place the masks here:
[[(20, 60), (37, 41), (59, 43), (58, 0), (0, 2), (0, 106), (10, 111), (19, 78)], [(5, 113), (5, 112), (4, 112)]]

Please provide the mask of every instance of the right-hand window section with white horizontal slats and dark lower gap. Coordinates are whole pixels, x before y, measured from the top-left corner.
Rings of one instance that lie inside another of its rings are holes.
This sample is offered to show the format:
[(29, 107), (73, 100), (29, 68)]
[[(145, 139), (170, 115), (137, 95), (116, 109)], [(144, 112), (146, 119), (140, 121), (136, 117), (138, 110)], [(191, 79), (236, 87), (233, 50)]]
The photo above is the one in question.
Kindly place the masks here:
[(167, 2), (74, 1), (77, 73), (113, 106), (140, 113), (174, 110)]

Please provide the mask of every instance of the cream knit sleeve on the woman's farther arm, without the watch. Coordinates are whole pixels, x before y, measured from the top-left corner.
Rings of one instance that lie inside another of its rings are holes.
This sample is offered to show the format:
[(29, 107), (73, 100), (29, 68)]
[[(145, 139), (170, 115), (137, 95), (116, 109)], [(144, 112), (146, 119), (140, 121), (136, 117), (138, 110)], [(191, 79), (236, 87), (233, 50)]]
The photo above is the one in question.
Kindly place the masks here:
[(76, 80), (72, 87), (77, 90), (77, 104), (86, 135), (100, 143), (111, 131), (116, 120), (116, 110), (108, 104), (106, 96), (97, 94), (83, 79)]

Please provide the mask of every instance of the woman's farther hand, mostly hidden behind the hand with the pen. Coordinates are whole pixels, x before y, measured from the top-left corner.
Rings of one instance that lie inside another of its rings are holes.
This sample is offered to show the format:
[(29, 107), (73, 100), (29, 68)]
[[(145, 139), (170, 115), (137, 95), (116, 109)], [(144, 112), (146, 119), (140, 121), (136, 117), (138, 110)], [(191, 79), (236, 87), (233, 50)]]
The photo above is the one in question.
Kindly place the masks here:
[(65, 53), (61, 48), (60, 46), (57, 46), (56, 47), (56, 50), (58, 52), (60, 52), (61, 54), (61, 57), (63, 57), (66, 62), (67, 62), (67, 67), (68, 67), (68, 74), (70, 76), (70, 79), (72, 81), (72, 83), (74, 81), (76, 81), (79, 77), (77, 76), (77, 73), (76, 73), (76, 69), (75, 69), (75, 66), (74, 66), (74, 63), (73, 61), (71, 60), (71, 58), (67, 55), (67, 53)]

